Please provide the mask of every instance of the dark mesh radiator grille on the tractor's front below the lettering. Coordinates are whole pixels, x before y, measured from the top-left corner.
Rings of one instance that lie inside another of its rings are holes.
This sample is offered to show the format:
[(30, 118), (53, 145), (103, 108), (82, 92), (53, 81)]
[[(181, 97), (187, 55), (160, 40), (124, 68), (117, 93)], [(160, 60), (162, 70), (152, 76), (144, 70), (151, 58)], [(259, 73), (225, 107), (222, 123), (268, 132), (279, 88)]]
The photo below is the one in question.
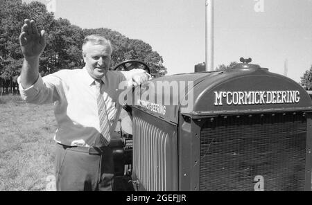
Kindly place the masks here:
[(200, 134), (200, 190), (304, 190), (306, 118), (265, 114), (209, 119)]

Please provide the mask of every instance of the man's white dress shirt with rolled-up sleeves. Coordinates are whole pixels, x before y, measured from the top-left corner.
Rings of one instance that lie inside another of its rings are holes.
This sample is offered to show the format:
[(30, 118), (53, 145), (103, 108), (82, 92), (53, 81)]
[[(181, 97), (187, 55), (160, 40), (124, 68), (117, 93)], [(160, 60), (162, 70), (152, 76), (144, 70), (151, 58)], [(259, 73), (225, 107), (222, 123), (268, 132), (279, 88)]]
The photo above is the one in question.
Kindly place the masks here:
[[(114, 132), (121, 105), (118, 103), (119, 83), (132, 80), (132, 75), (143, 70), (107, 71), (102, 78), (103, 98), (110, 121), (110, 132)], [(19, 77), (20, 78), (20, 77)], [(54, 114), (58, 123), (54, 140), (63, 145), (89, 147), (100, 133), (96, 86), (87, 69), (61, 70), (43, 78), (39, 76), (35, 84), (27, 89), (21, 87), (21, 98), (38, 105), (54, 103)]]

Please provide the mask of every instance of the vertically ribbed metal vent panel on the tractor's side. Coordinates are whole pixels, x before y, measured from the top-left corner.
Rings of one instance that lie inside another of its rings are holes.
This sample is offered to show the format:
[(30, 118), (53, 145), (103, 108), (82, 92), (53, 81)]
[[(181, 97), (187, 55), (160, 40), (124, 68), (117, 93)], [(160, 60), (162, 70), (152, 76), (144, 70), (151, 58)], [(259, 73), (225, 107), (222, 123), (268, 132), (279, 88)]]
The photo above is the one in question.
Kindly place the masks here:
[(155, 125), (133, 118), (133, 170), (148, 191), (167, 190), (166, 145), (168, 134)]

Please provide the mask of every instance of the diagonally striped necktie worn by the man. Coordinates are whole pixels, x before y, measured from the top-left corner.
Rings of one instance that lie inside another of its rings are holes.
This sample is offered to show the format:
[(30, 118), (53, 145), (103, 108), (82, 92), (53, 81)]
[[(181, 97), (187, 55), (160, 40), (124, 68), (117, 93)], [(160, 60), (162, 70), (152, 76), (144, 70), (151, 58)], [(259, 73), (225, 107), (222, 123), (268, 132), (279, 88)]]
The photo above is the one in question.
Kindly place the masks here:
[(95, 141), (96, 146), (108, 145), (110, 143), (110, 125), (107, 118), (106, 105), (101, 94), (102, 80), (95, 80), (96, 84), (96, 103), (98, 105), (98, 118), (100, 121), (101, 134)]

